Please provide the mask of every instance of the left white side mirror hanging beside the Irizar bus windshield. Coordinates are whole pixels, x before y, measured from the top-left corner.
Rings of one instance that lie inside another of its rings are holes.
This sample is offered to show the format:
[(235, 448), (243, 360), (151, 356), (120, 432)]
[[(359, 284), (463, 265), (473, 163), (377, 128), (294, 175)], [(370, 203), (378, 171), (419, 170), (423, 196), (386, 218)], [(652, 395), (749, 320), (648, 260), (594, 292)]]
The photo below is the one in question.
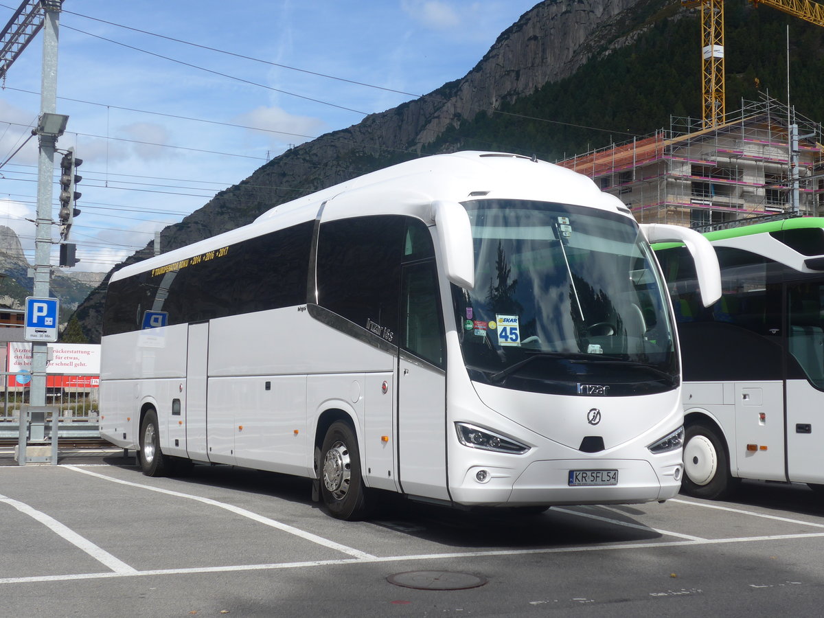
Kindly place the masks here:
[(438, 200), (432, 203), (432, 218), (438, 227), (438, 245), (447, 279), (461, 288), (475, 288), (475, 250), (466, 208), (457, 202)]

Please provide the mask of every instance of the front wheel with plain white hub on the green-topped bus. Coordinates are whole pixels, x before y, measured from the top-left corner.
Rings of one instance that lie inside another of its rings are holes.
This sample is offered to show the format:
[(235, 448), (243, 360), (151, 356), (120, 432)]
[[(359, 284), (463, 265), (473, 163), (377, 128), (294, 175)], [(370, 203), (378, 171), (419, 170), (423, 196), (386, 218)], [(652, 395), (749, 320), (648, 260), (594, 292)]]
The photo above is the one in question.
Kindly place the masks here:
[(684, 478), (681, 493), (695, 498), (727, 498), (737, 487), (738, 479), (729, 471), (729, 458), (723, 439), (709, 425), (695, 423), (686, 428), (684, 442)]

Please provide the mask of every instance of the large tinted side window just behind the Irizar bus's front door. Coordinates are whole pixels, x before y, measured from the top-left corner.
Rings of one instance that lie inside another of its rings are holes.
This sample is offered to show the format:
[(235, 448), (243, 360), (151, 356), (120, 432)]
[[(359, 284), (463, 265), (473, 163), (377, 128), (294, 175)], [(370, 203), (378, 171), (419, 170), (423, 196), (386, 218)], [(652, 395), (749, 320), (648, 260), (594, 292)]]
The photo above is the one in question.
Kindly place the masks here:
[(396, 333), (404, 233), (405, 219), (398, 216), (321, 224), (317, 243), (321, 307), (385, 339), (386, 333)]

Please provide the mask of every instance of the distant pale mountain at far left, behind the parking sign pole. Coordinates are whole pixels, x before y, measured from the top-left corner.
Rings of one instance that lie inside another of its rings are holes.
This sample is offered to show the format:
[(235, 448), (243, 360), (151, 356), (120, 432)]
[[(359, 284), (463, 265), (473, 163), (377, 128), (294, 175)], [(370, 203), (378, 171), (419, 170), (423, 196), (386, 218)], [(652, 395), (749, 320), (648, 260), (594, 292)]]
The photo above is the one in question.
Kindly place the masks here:
[[(0, 305), (24, 309), (26, 297), (34, 294), (31, 265), (23, 253), (20, 238), (11, 227), (0, 225)], [(60, 322), (65, 323), (77, 306), (101, 283), (104, 274), (66, 273), (53, 269), (51, 293), (60, 301)]]

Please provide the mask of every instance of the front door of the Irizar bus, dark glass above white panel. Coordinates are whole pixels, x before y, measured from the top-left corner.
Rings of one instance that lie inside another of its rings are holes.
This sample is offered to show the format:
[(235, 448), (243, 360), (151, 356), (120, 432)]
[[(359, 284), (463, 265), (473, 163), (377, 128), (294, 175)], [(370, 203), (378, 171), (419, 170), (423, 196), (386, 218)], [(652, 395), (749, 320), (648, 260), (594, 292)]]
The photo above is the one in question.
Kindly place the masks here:
[(433, 260), (401, 269), (398, 468), (405, 494), (449, 499), (446, 345)]

